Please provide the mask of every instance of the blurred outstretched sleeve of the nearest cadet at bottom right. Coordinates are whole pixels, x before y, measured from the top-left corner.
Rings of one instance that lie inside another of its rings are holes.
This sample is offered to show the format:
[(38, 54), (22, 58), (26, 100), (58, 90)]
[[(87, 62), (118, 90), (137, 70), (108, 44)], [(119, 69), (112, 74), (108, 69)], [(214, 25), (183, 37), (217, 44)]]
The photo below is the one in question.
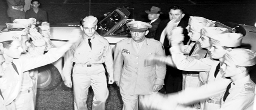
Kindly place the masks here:
[(221, 78), (199, 88), (186, 88), (178, 93), (176, 100), (180, 104), (199, 102), (200, 100), (205, 100), (211, 96), (223, 93), (230, 82), (230, 79)]

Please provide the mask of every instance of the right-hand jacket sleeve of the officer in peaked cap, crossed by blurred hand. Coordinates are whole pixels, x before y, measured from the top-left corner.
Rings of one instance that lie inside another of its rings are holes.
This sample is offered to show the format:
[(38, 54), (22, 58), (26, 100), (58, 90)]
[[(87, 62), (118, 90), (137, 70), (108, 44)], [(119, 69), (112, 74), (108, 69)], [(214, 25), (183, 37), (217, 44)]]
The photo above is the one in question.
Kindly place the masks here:
[[(165, 56), (163, 44), (159, 44), (158, 47), (156, 48), (156, 55), (157, 56)], [(156, 78), (157, 78), (157, 80), (156, 80), (155, 84), (163, 85), (165, 74), (166, 74), (166, 64), (156, 62)]]

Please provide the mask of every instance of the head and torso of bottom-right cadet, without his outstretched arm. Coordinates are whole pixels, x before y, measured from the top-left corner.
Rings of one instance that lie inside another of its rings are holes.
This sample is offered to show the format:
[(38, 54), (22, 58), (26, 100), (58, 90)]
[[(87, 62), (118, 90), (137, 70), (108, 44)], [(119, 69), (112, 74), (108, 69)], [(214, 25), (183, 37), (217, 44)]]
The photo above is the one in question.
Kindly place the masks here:
[(221, 69), (223, 76), (230, 77), (222, 98), (223, 110), (253, 110), (255, 83), (249, 73), (256, 64), (256, 52), (249, 49), (231, 49), (226, 52)]

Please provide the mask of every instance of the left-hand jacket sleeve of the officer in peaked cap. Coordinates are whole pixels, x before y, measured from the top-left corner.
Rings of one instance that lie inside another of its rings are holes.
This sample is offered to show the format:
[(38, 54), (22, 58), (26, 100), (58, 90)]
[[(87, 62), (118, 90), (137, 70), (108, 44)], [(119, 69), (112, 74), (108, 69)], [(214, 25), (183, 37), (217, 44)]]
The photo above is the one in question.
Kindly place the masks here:
[(114, 49), (114, 81), (119, 81), (121, 76), (121, 71), (123, 68), (123, 56), (121, 53), (121, 49), (119, 46), (119, 42), (116, 43), (115, 49)]

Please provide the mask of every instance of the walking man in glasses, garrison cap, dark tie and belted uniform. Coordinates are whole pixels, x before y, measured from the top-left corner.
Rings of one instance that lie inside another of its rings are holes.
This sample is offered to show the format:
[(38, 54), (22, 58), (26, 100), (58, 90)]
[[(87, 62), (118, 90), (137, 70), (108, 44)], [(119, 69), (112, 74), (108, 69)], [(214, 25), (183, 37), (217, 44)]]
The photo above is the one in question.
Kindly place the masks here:
[(94, 98), (92, 110), (105, 110), (105, 103), (109, 95), (103, 63), (109, 74), (109, 84), (113, 80), (113, 57), (109, 42), (99, 34), (95, 34), (98, 19), (93, 16), (80, 21), (82, 36), (65, 54), (64, 78), (65, 85), (72, 87), (71, 71), (73, 68), (74, 108), (87, 110), (86, 100), (88, 88), (92, 86)]

